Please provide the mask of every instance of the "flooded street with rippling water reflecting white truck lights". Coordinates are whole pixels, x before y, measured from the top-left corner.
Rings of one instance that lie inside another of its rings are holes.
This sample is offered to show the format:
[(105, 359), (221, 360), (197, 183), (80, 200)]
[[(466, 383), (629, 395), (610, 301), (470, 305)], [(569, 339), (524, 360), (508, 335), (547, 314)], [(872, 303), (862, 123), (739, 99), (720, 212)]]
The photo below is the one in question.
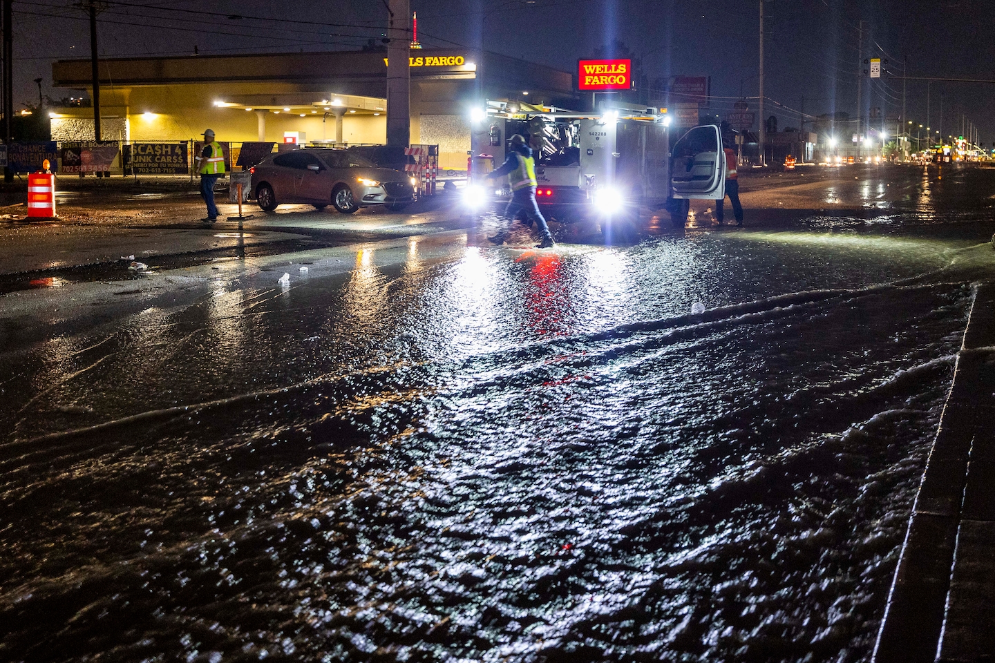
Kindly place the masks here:
[(844, 171), (4, 295), (0, 659), (870, 660), (995, 170)]

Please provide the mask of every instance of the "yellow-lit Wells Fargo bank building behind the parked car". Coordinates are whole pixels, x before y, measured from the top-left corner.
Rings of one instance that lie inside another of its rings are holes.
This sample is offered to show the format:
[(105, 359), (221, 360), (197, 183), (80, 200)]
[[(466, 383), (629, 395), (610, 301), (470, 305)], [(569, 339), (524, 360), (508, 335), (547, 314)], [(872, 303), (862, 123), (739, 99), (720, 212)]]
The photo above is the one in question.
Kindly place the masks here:
[[(485, 98), (571, 107), (574, 76), (493, 53), (413, 50), (411, 142), (439, 145), (440, 166), (464, 169), (470, 110)], [(121, 58), (100, 61), (103, 140), (196, 139), (212, 128), (222, 141), (386, 141), (385, 52)], [(92, 96), (89, 60), (53, 65), (57, 87)], [(93, 140), (89, 106), (51, 113), (53, 140)]]

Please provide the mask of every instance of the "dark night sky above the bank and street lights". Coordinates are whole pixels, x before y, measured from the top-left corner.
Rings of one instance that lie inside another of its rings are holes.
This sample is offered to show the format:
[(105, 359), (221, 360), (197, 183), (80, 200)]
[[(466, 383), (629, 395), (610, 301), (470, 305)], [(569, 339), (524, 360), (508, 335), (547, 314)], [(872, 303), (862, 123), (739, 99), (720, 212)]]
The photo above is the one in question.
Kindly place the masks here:
[[(14, 3), (15, 108), (54, 98), (55, 59), (89, 57), (86, 14), (79, 0)], [(807, 113), (857, 105), (862, 58), (889, 60), (886, 78), (864, 87), (865, 112), (901, 110), (902, 62), (907, 76), (995, 79), (993, 0), (768, 0), (765, 4), (766, 95), (779, 127)], [(651, 78), (710, 76), (714, 112), (742, 93), (757, 94), (758, 14), (754, 0), (411, 0), (427, 47), (478, 48), (573, 71), (598, 45), (625, 43)], [(229, 19), (228, 15), (241, 15)], [(101, 56), (155, 56), (355, 49), (379, 38), (382, 0), (125, 0), (100, 14)], [(865, 21), (863, 54), (858, 26)], [(961, 113), (995, 140), (995, 84), (908, 82), (907, 116), (956, 135)], [(756, 110), (756, 99), (749, 99)]]

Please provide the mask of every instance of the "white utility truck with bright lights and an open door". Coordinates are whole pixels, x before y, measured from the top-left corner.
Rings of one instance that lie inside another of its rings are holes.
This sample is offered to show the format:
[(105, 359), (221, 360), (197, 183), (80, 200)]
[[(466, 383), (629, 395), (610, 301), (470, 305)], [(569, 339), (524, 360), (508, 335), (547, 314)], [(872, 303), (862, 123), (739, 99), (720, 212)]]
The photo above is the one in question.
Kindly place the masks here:
[[(520, 134), (535, 157), (536, 201), (559, 223), (596, 221), (606, 235), (631, 222), (641, 207), (666, 207), (684, 224), (689, 199), (724, 194), (717, 126), (698, 126), (669, 149), (669, 117), (655, 108), (618, 104), (598, 114), (515, 101), (488, 101), (471, 129), (467, 202), (484, 205), (508, 195), (506, 180), (485, 179)], [(671, 173), (674, 177), (670, 177)]]

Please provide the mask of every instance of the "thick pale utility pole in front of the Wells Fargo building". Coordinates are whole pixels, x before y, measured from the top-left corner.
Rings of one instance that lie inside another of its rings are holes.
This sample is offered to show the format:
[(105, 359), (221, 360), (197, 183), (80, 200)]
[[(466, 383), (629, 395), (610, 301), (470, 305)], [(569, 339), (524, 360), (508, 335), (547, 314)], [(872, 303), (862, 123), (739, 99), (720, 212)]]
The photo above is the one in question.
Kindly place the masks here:
[(387, 3), (387, 144), (411, 144), (410, 0)]

